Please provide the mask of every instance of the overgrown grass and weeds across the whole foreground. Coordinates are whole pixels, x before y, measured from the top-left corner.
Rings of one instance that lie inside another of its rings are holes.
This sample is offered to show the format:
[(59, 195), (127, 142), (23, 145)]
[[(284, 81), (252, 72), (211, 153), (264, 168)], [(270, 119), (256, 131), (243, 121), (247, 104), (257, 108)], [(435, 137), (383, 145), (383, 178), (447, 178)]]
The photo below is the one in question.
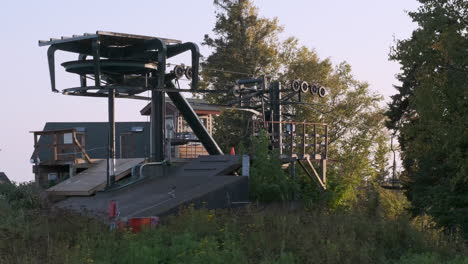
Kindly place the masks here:
[(467, 249), (405, 216), (251, 205), (186, 207), (139, 234), (0, 186), (0, 263), (468, 263)]

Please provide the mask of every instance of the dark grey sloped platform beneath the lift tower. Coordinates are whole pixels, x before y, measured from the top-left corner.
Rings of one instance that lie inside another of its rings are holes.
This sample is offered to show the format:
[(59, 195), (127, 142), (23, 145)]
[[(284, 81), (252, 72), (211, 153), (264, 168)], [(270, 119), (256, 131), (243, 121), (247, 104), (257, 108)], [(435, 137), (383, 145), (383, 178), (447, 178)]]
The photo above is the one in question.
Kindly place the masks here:
[(240, 165), (239, 156), (219, 155), (180, 167), (154, 167), (151, 177), (136, 184), (90, 197), (69, 197), (56, 206), (103, 218), (112, 200), (117, 201), (121, 217), (162, 216), (188, 203), (229, 207), (248, 200), (248, 177), (227, 175)]

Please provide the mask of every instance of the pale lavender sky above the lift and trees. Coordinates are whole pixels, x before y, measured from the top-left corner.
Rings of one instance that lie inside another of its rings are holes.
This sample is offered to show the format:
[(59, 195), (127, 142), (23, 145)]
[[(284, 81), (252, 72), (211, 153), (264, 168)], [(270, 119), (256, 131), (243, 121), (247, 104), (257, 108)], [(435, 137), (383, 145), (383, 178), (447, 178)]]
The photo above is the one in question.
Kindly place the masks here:
[[(321, 58), (347, 61), (357, 79), (389, 99), (399, 65), (388, 61), (394, 38), (415, 28), (406, 11), (416, 0), (254, 0), (260, 16), (278, 17), (282, 38), (295, 36)], [(215, 15), (212, 0), (4, 1), (0, 9), (0, 171), (17, 182), (33, 180), (29, 157), (33, 136), (46, 122), (107, 121), (103, 98), (73, 97), (50, 91), (46, 48), (40, 39), (96, 30), (180, 39), (200, 44)], [(209, 50), (201, 47), (203, 55)], [(58, 61), (74, 57), (57, 53)], [(180, 61), (173, 61), (178, 63)], [(79, 86), (59, 64), (58, 89)], [(144, 101), (116, 101), (117, 121), (146, 121)]]

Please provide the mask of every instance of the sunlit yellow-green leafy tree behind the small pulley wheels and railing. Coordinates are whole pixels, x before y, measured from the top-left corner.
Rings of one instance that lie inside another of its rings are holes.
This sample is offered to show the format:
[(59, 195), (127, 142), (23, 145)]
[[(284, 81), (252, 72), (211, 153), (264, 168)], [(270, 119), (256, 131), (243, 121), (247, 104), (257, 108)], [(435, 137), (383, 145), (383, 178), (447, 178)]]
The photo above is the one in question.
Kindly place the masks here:
[(346, 62), (333, 67), (314, 50), (286, 40), (281, 48), (281, 79), (301, 79), (327, 87), (325, 98), (304, 96), (306, 105), (295, 106), (296, 120), (329, 124), (328, 189), (333, 208), (356, 205), (364, 184), (386, 173), (389, 137), (384, 129), (382, 96), (358, 81)]

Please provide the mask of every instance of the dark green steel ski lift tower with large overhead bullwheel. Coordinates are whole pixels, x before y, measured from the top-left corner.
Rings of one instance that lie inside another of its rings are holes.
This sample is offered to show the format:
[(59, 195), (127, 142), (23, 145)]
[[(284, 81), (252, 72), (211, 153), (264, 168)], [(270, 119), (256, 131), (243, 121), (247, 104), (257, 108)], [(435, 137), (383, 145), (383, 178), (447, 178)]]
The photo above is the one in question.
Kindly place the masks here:
[[(191, 79), (188, 91), (197, 91), (200, 54), (196, 44), (158, 37), (97, 31), (95, 34), (39, 41), (39, 46), (49, 46), (47, 57), (53, 92), (108, 99), (108, 187), (115, 182), (115, 98), (151, 100), (150, 160), (152, 162), (163, 163), (166, 159), (164, 153), (166, 93), (208, 153), (223, 154), (181, 94), (182, 90), (176, 89), (173, 83), (175, 78), (185, 74)], [(77, 55), (77, 60), (62, 63), (62, 66), (67, 72), (79, 75), (79, 87), (62, 91), (57, 89), (55, 80), (57, 51)], [(166, 61), (184, 52), (191, 53), (191, 67), (176, 66), (172, 71), (167, 71)], [(93, 82), (88, 84), (88, 79)], [(145, 91), (151, 91), (151, 98), (139, 95)]]

